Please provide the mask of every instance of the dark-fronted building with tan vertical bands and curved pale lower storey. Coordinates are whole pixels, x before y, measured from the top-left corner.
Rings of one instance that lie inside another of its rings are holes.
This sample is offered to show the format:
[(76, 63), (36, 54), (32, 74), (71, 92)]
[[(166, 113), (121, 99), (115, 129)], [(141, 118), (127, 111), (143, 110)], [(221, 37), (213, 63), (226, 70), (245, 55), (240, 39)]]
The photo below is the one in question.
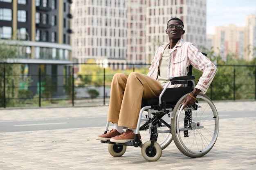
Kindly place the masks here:
[[(56, 64), (72, 63), (71, 4), (72, 0), (0, 0), (0, 41), (21, 42), (25, 48), (15, 62), (29, 64), (29, 74), (38, 74), (40, 67), (42, 75), (54, 75), (56, 87), (63, 86), (64, 79), (56, 74), (70, 69)], [(31, 78), (36, 87), (38, 77)], [(31, 91), (37, 93), (36, 88)], [(56, 95), (62, 93), (58, 88)]]

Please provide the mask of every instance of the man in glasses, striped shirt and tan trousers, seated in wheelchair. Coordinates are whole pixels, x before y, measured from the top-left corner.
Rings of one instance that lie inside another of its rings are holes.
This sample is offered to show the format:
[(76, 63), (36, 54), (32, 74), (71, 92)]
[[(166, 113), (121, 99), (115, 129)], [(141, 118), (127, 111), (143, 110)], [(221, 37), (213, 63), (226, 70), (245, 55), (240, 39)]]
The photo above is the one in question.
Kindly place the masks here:
[[(160, 46), (154, 56), (148, 75), (117, 73), (114, 75), (110, 90), (108, 122), (114, 124), (113, 129), (96, 139), (110, 140), (113, 143), (126, 143), (135, 138), (135, 129), (141, 109), (141, 101), (158, 98), (167, 85), (168, 78), (186, 76), (189, 66), (202, 71), (198, 84), (188, 93), (182, 104), (192, 106), (197, 95), (206, 93), (213, 77), (216, 66), (190, 42), (185, 42), (184, 24), (179, 18), (171, 18), (167, 22), (166, 34), (169, 42)], [(176, 88), (181, 84), (169, 84), (168, 88)], [(128, 128), (123, 132), (123, 127)], [(139, 135), (139, 139), (140, 139)]]

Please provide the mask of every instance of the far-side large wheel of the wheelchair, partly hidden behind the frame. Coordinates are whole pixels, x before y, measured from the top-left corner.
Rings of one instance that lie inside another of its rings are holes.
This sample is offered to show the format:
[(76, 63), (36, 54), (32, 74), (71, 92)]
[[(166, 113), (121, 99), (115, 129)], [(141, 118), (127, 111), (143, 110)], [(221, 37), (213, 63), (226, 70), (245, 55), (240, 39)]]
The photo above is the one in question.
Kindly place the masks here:
[[(148, 112), (146, 112), (146, 111), (144, 111), (144, 112), (145, 113), (142, 116), (142, 119), (146, 118), (147, 116), (145, 116), (145, 115), (148, 114)], [(152, 113), (152, 114), (153, 115), (163, 114), (161, 120), (159, 120), (155, 123), (153, 122), (153, 125), (157, 127), (157, 133), (158, 133), (157, 143), (161, 146), (161, 148), (163, 150), (167, 146), (169, 146), (169, 144), (171, 144), (171, 141), (173, 140), (173, 137), (171, 135), (171, 125), (170, 125), (171, 118), (168, 117), (168, 114), (165, 114), (165, 113)], [(145, 126), (145, 122), (141, 122), (141, 126)], [(142, 147), (144, 141), (150, 140), (150, 131), (147, 126), (146, 130), (140, 130), (139, 132), (140, 132), (141, 140), (142, 140), (142, 144), (140, 147)]]

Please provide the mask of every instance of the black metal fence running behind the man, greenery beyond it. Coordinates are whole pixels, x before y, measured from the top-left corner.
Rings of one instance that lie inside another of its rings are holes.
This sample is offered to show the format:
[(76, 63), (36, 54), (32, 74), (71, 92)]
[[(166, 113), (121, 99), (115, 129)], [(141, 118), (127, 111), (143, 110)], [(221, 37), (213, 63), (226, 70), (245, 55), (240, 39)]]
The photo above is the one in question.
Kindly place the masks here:
[[(0, 63), (0, 107), (106, 105), (115, 73), (137, 71), (146, 74), (148, 66)], [(256, 65), (217, 67), (218, 72), (207, 91), (212, 100), (256, 100)], [(193, 69), (193, 75), (197, 82), (201, 72)]]

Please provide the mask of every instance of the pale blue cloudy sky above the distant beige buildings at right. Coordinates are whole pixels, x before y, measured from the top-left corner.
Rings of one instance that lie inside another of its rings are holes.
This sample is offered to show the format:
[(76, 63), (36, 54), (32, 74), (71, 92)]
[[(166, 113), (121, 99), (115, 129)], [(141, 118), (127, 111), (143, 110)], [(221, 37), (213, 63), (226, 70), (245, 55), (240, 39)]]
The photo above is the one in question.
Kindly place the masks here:
[(256, 0), (207, 0), (207, 34), (217, 26), (245, 26), (245, 16), (256, 14)]

